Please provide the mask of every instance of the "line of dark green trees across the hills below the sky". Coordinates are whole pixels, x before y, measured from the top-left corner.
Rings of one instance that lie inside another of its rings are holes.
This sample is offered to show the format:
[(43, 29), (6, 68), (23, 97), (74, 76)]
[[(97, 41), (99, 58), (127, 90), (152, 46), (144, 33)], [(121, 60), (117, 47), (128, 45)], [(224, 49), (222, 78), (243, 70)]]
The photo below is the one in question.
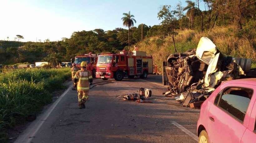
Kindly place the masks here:
[[(33, 63), (49, 60), (49, 57), (54, 56), (61, 56), (62, 61), (69, 61), (76, 55), (88, 52), (129, 50), (130, 45), (150, 37), (171, 39), (175, 48), (175, 36), (183, 29), (211, 32), (216, 26), (230, 25), (234, 27), (234, 35), (237, 38), (248, 38), (255, 48), (256, 4), (254, 0), (191, 0), (186, 1), (185, 5), (183, 7), (179, 2), (175, 6), (161, 6), (158, 12), (161, 22), (152, 27), (145, 24), (134, 27), (135, 16), (129, 11), (123, 13), (124, 17), (121, 18), (123, 25), (128, 29), (76, 31), (70, 38), (52, 42), (49, 39), (44, 42), (41, 40), (40, 42), (0, 41), (0, 64)], [(205, 8), (200, 9), (203, 6)], [(23, 38), (21, 35), (17, 37)], [(177, 51), (176, 48), (175, 51)]]

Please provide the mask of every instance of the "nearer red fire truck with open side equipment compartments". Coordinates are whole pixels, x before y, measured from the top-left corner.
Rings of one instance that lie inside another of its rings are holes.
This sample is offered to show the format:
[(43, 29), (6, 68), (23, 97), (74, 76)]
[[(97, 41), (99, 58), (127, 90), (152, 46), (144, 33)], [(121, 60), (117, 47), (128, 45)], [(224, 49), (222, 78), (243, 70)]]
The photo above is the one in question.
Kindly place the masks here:
[(153, 72), (152, 56), (143, 51), (120, 51), (119, 54), (101, 53), (96, 66), (96, 78), (121, 81), (125, 76), (147, 78)]

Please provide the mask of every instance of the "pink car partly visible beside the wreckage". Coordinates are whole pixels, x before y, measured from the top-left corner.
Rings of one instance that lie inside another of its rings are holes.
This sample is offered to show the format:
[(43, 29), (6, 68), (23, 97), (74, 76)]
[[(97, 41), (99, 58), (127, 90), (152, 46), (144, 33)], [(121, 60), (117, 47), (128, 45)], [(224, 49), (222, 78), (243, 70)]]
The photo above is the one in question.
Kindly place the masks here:
[(201, 105), (199, 143), (256, 143), (256, 78), (221, 83)]

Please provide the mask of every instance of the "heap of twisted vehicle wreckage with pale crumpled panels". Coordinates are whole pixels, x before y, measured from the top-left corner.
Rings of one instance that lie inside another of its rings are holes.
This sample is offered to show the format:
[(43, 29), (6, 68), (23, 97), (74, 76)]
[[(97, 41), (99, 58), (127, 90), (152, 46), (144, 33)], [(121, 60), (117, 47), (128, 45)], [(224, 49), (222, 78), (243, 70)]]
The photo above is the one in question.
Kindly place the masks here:
[(251, 59), (224, 56), (209, 38), (202, 37), (196, 50), (171, 54), (163, 62), (163, 82), (168, 78), (169, 84), (165, 96), (176, 96), (183, 106), (200, 107), (221, 81), (255, 76), (251, 63)]

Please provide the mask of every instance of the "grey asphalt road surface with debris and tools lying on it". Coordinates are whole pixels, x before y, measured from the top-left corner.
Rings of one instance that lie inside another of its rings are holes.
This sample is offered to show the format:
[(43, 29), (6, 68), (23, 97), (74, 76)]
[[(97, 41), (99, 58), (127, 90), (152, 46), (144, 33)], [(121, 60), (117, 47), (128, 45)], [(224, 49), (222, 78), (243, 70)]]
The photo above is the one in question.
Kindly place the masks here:
[[(139, 87), (152, 89), (152, 103), (116, 97), (137, 92)], [(69, 88), (15, 142), (197, 142), (199, 109), (166, 104), (176, 101), (163, 96), (165, 91), (161, 75), (114, 81), (92, 88), (86, 109), (78, 109), (77, 92)]]

